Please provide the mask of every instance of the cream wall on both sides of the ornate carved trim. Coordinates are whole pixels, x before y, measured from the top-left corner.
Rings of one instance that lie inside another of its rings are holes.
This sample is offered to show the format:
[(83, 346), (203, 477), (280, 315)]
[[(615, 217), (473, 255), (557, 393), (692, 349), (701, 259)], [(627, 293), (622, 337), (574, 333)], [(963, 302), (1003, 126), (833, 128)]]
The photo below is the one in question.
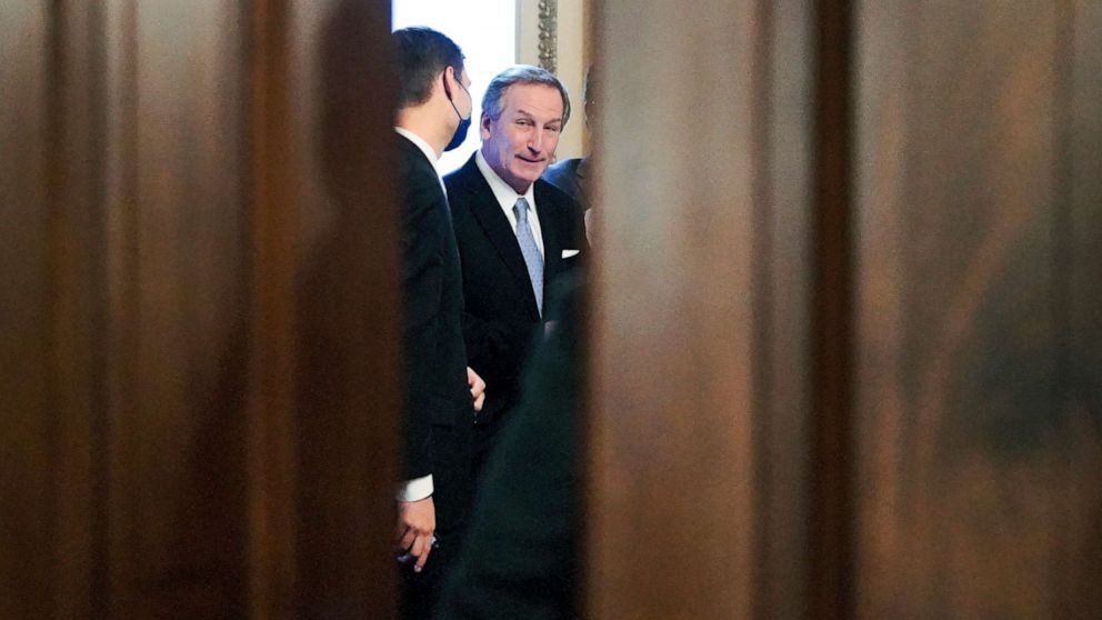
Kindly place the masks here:
[[(572, 120), (559, 142), (559, 159), (583, 153), (585, 116), (582, 112), (582, 82), (585, 76), (585, 4), (588, 0), (559, 0), (559, 53), (557, 73), (570, 90)], [(517, 0), (517, 59), (527, 64), (540, 63), (540, 2)]]

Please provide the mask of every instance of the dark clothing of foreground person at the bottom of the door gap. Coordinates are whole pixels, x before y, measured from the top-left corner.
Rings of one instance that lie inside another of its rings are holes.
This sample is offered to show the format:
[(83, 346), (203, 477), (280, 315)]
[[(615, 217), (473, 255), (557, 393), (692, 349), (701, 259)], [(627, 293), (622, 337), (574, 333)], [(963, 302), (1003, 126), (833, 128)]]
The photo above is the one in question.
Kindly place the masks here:
[(538, 344), (524, 394), (472, 511), (437, 620), (579, 618), (580, 390), (584, 286), (557, 287), (555, 324)]

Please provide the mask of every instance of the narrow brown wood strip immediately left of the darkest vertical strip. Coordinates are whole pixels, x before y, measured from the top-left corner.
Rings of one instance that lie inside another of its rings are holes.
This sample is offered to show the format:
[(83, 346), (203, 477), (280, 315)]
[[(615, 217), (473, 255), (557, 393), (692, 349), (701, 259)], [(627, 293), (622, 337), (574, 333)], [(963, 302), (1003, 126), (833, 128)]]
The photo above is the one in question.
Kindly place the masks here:
[(815, 143), (815, 12), (802, 0), (759, 4), (752, 114), (752, 347), (755, 451), (754, 618), (808, 614), (811, 574), (811, 234)]

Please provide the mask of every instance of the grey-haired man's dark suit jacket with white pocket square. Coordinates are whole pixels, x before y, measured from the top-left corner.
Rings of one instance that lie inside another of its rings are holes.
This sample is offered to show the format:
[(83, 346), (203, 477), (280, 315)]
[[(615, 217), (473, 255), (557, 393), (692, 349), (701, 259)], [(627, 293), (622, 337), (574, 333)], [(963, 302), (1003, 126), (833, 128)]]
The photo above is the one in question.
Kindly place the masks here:
[[(462, 259), (468, 363), (487, 383), (478, 420), (489, 423), (515, 404), (521, 367), (542, 319), (517, 234), (474, 156), (444, 182)], [(577, 202), (554, 186), (539, 180), (533, 191), (543, 237), (543, 290), (549, 291), (581, 259), (563, 260), (562, 251), (585, 251), (584, 224)]]

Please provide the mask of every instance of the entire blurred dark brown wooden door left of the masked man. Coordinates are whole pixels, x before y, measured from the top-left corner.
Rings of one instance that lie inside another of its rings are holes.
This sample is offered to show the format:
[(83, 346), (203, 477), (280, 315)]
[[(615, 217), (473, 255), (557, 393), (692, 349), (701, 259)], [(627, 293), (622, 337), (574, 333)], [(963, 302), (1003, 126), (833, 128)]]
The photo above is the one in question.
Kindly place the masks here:
[(0, 9), (0, 616), (393, 612), (389, 21)]

